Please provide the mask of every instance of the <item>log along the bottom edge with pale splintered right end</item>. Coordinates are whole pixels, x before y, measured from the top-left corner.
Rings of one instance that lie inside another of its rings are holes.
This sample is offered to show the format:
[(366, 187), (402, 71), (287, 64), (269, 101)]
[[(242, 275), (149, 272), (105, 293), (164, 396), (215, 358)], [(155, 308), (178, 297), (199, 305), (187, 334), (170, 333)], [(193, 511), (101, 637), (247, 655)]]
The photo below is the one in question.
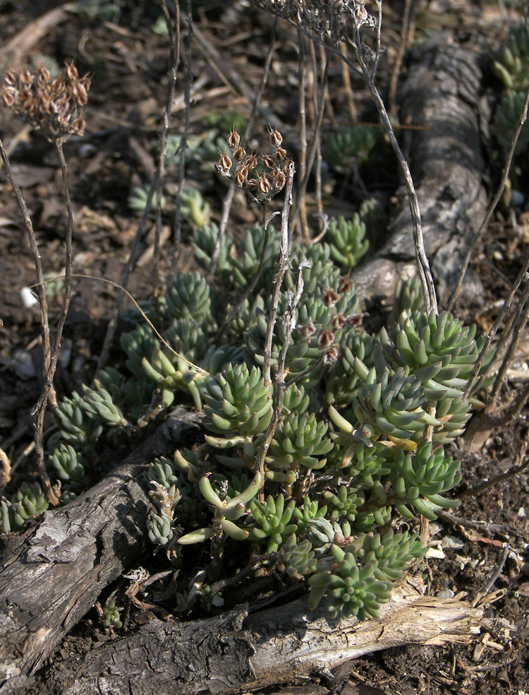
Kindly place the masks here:
[(300, 684), (347, 660), (404, 644), (466, 642), (482, 610), (422, 596), (413, 580), (396, 586), (378, 620), (329, 619), (306, 598), (249, 612), (248, 606), (187, 623), (152, 620), (135, 634), (56, 662), (32, 694), (230, 695)]

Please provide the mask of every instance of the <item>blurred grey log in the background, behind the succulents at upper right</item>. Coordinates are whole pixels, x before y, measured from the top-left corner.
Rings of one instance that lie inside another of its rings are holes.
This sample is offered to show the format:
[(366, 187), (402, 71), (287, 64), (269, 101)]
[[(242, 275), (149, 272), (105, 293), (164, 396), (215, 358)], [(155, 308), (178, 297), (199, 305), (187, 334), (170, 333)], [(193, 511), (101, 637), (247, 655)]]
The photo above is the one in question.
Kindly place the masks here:
[[(454, 288), (473, 232), (485, 217), (485, 161), (480, 136), (479, 54), (433, 44), (413, 52), (400, 93), (401, 123), (408, 131), (406, 155), (417, 189), (425, 249), (439, 293), (439, 306)], [(384, 245), (351, 280), (363, 305), (391, 301), (397, 281), (415, 267), (413, 225), (406, 194), (396, 210)], [(465, 301), (478, 292), (467, 283)], [(479, 293), (478, 293), (478, 296)]]

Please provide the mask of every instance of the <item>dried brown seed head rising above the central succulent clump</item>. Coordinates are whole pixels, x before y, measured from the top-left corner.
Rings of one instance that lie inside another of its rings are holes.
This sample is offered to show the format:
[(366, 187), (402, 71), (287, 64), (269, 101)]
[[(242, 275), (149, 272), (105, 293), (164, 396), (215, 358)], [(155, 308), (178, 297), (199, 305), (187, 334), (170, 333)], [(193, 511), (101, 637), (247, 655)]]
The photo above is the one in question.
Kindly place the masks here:
[(265, 167), (264, 172), (256, 171), (259, 161), (253, 152), (246, 153), (241, 145), (241, 136), (236, 130), (232, 130), (227, 138), (231, 149), (231, 157), (224, 153), (215, 164), (217, 172), (221, 176), (227, 176), (240, 188), (248, 189), (253, 193), (255, 201), (265, 205), (283, 189), (286, 182), (286, 170), (290, 160), (286, 157), (286, 150), (281, 147), (283, 136), (277, 129), (268, 126), (268, 134), (272, 143), (272, 155), (261, 155), (260, 160)]

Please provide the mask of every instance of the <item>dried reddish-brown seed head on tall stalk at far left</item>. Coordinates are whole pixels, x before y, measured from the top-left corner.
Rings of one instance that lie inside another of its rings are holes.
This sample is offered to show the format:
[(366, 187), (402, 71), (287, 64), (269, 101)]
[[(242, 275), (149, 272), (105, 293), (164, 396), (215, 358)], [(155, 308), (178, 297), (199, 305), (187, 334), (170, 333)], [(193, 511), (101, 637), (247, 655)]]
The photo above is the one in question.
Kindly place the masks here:
[(34, 72), (8, 70), (0, 100), (48, 140), (63, 142), (71, 135), (83, 135), (89, 89), (90, 78), (80, 78), (73, 63), (67, 63), (51, 82), (49, 70), (41, 65)]

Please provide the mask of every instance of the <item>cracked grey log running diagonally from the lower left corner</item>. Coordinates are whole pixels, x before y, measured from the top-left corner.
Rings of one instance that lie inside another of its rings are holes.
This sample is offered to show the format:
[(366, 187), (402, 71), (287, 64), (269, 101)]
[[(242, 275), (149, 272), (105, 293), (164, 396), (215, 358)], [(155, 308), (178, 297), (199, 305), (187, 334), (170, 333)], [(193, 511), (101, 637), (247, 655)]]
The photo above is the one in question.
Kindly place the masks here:
[(196, 431), (197, 417), (176, 409), (122, 465), (71, 504), (44, 513), (4, 554), (0, 693), (23, 691), (26, 677), (145, 550), (152, 504), (140, 475)]

